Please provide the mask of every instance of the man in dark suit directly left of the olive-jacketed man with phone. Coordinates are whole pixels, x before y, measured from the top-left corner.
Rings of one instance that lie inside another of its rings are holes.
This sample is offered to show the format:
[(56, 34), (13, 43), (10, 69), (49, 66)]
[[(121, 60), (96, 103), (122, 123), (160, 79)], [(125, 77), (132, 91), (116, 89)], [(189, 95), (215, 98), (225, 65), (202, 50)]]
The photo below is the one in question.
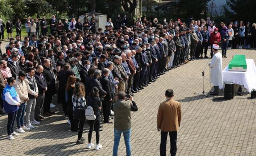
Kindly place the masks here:
[(104, 101), (102, 102), (103, 106), (103, 115), (104, 115), (104, 123), (113, 123), (109, 121), (108, 116), (110, 115), (110, 108), (113, 97), (113, 90), (110, 83), (110, 80), (108, 79), (110, 70), (108, 68), (104, 68), (102, 70), (102, 77), (100, 78), (100, 83), (102, 85), (102, 89), (107, 92), (106, 96), (104, 97)]

